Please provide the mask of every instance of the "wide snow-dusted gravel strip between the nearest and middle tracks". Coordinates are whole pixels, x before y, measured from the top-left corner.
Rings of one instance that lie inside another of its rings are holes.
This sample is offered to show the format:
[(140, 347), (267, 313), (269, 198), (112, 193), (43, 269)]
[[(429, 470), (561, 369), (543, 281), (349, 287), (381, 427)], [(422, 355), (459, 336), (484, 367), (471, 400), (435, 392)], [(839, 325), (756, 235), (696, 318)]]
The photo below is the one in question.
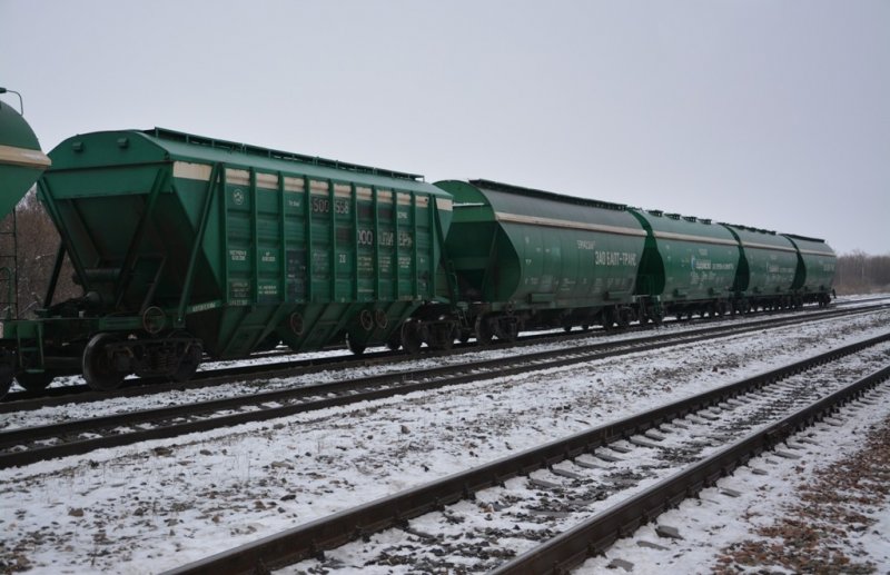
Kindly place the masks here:
[(53, 574), (164, 571), (889, 323), (881, 311), (763, 330), (0, 470), (0, 562)]

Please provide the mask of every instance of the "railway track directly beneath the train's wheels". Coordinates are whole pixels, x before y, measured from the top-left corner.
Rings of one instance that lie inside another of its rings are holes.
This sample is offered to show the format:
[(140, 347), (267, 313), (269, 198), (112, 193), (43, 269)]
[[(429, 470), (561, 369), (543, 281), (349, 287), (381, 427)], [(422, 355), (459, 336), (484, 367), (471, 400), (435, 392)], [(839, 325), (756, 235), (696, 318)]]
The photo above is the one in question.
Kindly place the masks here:
[[(759, 327), (781, 326), (795, 324), (800, 321), (814, 321), (820, 319), (828, 319), (846, 315), (868, 314), (882, 308), (890, 307), (890, 304), (873, 304), (869, 306), (859, 306), (852, 309), (829, 309), (829, 310), (811, 310), (802, 316), (793, 317), (767, 317), (745, 321), (743, 327), (751, 327), (752, 329)], [(770, 313), (772, 314), (772, 313)], [(724, 318), (706, 318), (698, 319), (695, 323), (710, 324), (719, 321)], [(740, 326), (740, 327), (742, 327)], [(695, 328), (685, 333), (706, 334), (709, 330), (713, 333), (721, 333), (725, 328), (724, 325), (710, 326), (703, 328)], [(651, 331), (651, 328), (643, 326), (635, 326), (631, 333)], [(589, 339), (593, 334), (604, 334), (604, 331), (573, 331), (568, 334), (554, 335), (552, 333), (531, 334), (522, 337), (520, 340), (512, 344), (502, 343), (495, 344), (498, 347), (520, 347), (533, 346), (544, 344), (558, 344), (565, 341), (583, 341)], [(647, 339), (652, 336), (640, 336), (637, 339)], [(494, 346), (490, 346), (494, 347)], [(459, 356), (466, 353), (478, 351), (479, 347), (475, 344), (458, 345), (448, 351), (429, 351), (424, 357), (448, 357)], [(352, 355), (325, 357), (325, 358), (310, 358), (299, 359), (291, 361), (279, 361), (274, 364), (264, 365), (249, 365), (236, 367), (222, 367), (217, 369), (198, 371), (190, 381), (187, 383), (171, 383), (164, 379), (129, 379), (125, 381), (125, 387), (113, 393), (99, 393), (92, 390), (87, 385), (71, 385), (52, 387), (41, 393), (33, 391), (12, 391), (0, 401), (0, 414), (16, 413), (24, 410), (34, 410), (43, 407), (68, 405), (68, 404), (86, 404), (92, 401), (103, 401), (113, 397), (139, 397), (145, 395), (165, 394), (172, 390), (182, 389), (201, 389), (207, 387), (215, 387), (225, 384), (244, 381), (246, 379), (269, 379), (312, 375), (330, 369), (353, 369), (358, 367), (370, 367), (375, 365), (399, 365), (411, 361), (416, 361), (415, 356), (406, 355), (404, 353), (393, 351), (374, 351), (365, 354), (360, 357)]]

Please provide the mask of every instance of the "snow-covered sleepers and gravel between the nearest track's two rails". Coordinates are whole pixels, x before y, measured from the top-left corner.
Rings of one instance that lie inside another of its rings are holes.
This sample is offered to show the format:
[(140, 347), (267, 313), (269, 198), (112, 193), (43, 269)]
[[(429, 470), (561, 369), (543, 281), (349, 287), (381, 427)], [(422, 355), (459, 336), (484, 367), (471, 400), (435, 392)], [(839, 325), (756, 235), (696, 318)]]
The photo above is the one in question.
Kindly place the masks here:
[[(890, 344), (884, 343), (805, 374), (788, 377), (781, 386), (772, 387), (763, 395), (754, 394), (750, 400), (745, 398), (741, 405), (721, 410), (716, 415), (719, 422), (691, 417), (683, 422), (683, 427), (665, 426), (668, 430), (655, 447), (616, 442), (615, 447), (625, 453), (600, 449), (617, 455), (620, 460), (601, 463), (596, 470), (578, 468), (571, 463), (558, 465), (589, 479), (564, 479), (538, 469), (531, 475), (532, 478), (560, 487), (541, 489), (528, 478), (515, 477), (503, 488), (477, 493), (474, 502), (461, 502), (443, 512), (412, 519), (409, 532), (388, 529), (372, 535), (367, 542), (356, 541), (328, 552), (320, 563), (306, 561), (281, 573), (325, 573), (327, 568), (362, 569), (369, 574), (444, 573), (457, 568), (455, 566), (464, 566), (474, 573), (487, 571), (502, 563), (504, 557), (532, 548), (543, 532), (565, 531), (673, 475), (682, 466), (676, 463), (678, 457), (690, 463), (706, 457), (774, 420), (778, 404), (783, 406), (783, 413), (790, 409), (784, 407), (787, 401), (803, 407), (882, 366), (888, 354)], [(595, 500), (577, 509), (572, 503), (585, 499)], [(558, 513), (550, 517), (546, 510)], [(417, 533), (428, 534), (425, 537), (428, 541), (417, 537)]]

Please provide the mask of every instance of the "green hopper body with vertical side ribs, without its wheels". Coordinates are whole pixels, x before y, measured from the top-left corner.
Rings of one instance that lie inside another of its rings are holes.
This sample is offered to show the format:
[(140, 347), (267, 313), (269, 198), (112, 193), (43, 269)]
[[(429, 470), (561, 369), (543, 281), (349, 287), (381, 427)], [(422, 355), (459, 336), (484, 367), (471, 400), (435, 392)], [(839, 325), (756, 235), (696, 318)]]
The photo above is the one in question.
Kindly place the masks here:
[(77, 136), (50, 158), (41, 200), (86, 295), (8, 324), (39, 348), (29, 370), (77, 367), (106, 331), (188, 334), (217, 358), (360, 350), (436, 297), (451, 199), (419, 176), (164, 129)]

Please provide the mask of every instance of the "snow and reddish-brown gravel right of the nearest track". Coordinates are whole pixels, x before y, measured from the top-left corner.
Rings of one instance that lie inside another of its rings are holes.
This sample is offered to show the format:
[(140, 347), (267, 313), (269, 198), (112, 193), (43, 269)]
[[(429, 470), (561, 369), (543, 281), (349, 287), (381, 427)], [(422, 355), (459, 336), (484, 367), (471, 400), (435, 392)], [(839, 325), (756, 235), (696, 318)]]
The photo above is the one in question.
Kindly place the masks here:
[[(818, 424), (790, 439), (800, 459), (774, 454), (752, 459), (575, 573), (604, 573), (615, 559), (632, 563), (636, 575), (890, 572), (887, 386), (873, 398), (874, 405), (841, 413), (842, 426)], [(864, 474), (842, 480), (876, 457)], [(818, 509), (827, 502), (833, 516), (824, 522)], [(657, 525), (676, 528), (682, 538), (660, 537)]]

